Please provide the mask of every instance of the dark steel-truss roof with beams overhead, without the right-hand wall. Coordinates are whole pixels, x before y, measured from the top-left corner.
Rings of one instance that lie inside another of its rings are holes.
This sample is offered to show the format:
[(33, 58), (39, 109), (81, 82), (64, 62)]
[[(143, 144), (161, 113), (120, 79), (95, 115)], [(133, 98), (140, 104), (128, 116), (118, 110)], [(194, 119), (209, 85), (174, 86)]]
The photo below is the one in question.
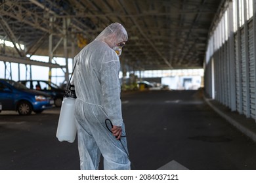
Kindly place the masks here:
[(8, 62), (36, 64), (24, 61), (27, 55), (49, 56), (51, 65), (42, 65), (60, 67), (54, 60), (60, 56), (66, 58), (61, 67), (67, 80), (68, 58), (112, 22), (123, 24), (129, 34), (121, 56), (124, 73), (202, 68), (209, 29), (223, 2), (13, 0), (0, 5), (1, 40), (14, 43), (14, 48), (0, 44), (7, 69)]

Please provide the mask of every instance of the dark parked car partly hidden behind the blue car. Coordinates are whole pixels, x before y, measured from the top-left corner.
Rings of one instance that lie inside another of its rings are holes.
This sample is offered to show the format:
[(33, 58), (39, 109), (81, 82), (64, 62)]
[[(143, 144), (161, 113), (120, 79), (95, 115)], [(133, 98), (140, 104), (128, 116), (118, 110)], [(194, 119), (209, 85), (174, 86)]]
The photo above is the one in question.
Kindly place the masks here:
[(27, 88), (33, 90), (39, 90), (41, 92), (48, 93), (54, 99), (54, 105), (60, 107), (62, 105), (62, 99), (64, 95), (64, 90), (59, 88), (53, 82), (46, 80), (20, 80), (21, 84), (24, 84)]

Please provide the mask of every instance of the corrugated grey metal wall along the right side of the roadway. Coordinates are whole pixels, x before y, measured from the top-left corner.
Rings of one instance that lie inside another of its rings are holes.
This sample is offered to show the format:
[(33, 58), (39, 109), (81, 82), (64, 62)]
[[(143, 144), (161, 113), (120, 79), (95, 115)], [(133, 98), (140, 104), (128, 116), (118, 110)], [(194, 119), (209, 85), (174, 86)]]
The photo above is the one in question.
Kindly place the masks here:
[[(205, 58), (205, 92), (232, 111), (256, 119), (256, 0), (224, 3)], [(254, 14), (254, 16), (253, 16)], [(213, 83), (214, 81), (214, 83)]]

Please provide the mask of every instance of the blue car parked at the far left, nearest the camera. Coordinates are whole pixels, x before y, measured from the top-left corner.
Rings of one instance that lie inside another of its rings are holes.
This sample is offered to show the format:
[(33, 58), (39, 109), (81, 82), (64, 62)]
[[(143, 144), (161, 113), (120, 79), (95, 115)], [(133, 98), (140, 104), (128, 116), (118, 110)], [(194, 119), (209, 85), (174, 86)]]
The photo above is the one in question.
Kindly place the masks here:
[(16, 110), (20, 115), (29, 115), (32, 111), (40, 113), (52, 108), (51, 95), (30, 90), (13, 80), (0, 79), (0, 103), (2, 110)]

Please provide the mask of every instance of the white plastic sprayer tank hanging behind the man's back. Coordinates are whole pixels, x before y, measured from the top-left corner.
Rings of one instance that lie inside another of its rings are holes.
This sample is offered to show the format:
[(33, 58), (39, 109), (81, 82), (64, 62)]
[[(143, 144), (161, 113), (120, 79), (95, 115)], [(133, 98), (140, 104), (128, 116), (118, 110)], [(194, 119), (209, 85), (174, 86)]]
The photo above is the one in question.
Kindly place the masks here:
[(58, 119), (58, 128), (56, 137), (58, 141), (75, 141), (77, 127), (75, 124), (75, 99), (72, 97), (64, 97), (62, 107), (60, 109), (60, 118)]

